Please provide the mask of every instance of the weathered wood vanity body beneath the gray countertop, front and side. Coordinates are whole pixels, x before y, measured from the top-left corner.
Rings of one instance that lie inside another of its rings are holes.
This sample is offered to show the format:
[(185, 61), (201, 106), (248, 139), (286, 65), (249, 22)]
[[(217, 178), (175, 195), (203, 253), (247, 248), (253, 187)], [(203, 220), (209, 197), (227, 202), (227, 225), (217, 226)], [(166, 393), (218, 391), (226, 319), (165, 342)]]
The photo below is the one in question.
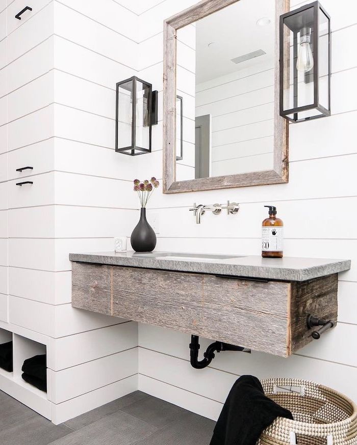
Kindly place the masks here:
[[(337, 320), (337, 274), (305, 282), (72, 263), (72, 305), (287, 357)], [(313, 330), (316, 330), (314, 328)]]

